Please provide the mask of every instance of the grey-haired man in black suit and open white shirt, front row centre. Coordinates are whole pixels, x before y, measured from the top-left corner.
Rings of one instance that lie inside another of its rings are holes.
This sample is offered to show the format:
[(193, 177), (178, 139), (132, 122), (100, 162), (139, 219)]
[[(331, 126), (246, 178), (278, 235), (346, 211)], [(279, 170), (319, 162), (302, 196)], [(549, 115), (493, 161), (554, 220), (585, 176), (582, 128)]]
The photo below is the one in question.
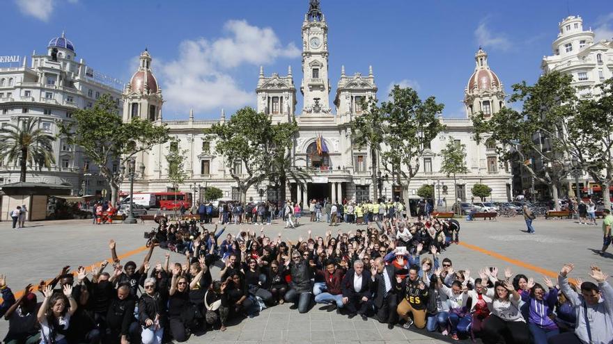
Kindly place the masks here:
[(371, 304), (371, 273), (364, 271), (364, 262), (357, 260), (353, 262), (353, 268), (343, 277), (341, 284), (343, 290), (343, 303), (346, 304), (349, 318), (355, 317), (358, 313), (362, 320), (367, 321), (366, 311)]

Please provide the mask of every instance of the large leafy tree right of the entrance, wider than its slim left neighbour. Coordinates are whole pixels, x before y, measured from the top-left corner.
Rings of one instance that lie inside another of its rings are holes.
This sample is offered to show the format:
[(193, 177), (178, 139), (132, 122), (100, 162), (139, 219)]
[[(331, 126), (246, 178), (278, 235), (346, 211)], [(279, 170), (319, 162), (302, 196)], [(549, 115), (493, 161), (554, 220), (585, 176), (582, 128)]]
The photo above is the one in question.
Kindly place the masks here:
[(435, 97), (421, 101), (412, 88), (398, 85), (394, 85), (389, 98), (390, 101), (380, 106), (387, 124), (384, 140), (387, 149), (381, 156), (385, 169), (403, 187), (403, 198), (410, 214), (409, 184), (419, 172), (421, 158), (430, 141), (444, 130), (437, 118), (444, 105), (437, 103)]

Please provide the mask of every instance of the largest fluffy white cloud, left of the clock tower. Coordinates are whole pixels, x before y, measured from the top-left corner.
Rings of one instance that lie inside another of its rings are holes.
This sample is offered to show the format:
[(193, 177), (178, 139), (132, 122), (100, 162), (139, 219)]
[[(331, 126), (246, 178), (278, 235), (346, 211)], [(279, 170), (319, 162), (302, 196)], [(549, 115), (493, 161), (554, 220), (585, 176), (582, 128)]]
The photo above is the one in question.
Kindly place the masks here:
[[(160, 67), (167, 108), (209, 111), (252, 103), (254, 85), (244, 90), (232, 75), (240, 65), (266, 65), (277, 58), (295, 58), (300, 50), (293, 43), (283, 46), (271, 28), (251, 26), (245, 20), (224, 24), (226, 37), (216, 40), (185, 40), (179, 58)], [(254, 74), (253, 78), (257, 75)], [(255, 83), (255, 79), (254, 80)]]

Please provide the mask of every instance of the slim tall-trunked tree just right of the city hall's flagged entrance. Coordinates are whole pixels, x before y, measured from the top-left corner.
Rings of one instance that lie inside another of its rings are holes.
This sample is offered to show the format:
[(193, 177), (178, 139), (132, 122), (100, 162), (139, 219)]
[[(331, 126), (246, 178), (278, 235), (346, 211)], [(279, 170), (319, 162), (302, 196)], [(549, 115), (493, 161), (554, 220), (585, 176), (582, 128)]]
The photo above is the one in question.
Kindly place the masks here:
[(385, 116), (377, 106), (377, 99), (372, 97), (360, 104), (364, 109), (362, 115), (356, 116), (350, 122), (352, 144), (356, 147), (368, 147), (371, 156), (371, 185), (373, 186), (373, 199), (378, 199), (377, 156), (381, 151), (381, 144), (385, 138)]

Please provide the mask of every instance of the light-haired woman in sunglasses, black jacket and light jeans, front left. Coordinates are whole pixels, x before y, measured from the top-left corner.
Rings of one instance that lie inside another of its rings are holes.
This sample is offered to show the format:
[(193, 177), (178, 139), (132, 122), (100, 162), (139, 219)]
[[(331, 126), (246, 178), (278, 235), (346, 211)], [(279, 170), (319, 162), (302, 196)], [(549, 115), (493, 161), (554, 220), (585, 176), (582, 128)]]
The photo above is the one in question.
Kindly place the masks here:
[(145, 293), (139, 300), (139, 322), (143, 344), (161, 344), (166, 325), (166, 304), (155, 290), (155, 278), (145, 279)]

